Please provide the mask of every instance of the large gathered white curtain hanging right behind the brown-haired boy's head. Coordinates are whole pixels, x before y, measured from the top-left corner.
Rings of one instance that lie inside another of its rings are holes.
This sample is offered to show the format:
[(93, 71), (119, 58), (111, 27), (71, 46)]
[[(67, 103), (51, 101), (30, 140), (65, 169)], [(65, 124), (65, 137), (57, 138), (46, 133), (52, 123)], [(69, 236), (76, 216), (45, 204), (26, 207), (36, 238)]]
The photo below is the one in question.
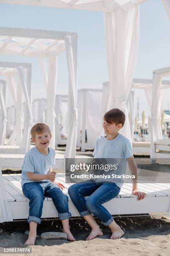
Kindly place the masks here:
[(105, 13), (105, 29), (108, 73), (112, 95), (107, 110), (119, 108), (125, 113), (126, 121), (120, 133), (132, 142), (126, 100), (130, 93), (138, 57), (138, 6), (126, 12), (116, 8), (113, 12)]

